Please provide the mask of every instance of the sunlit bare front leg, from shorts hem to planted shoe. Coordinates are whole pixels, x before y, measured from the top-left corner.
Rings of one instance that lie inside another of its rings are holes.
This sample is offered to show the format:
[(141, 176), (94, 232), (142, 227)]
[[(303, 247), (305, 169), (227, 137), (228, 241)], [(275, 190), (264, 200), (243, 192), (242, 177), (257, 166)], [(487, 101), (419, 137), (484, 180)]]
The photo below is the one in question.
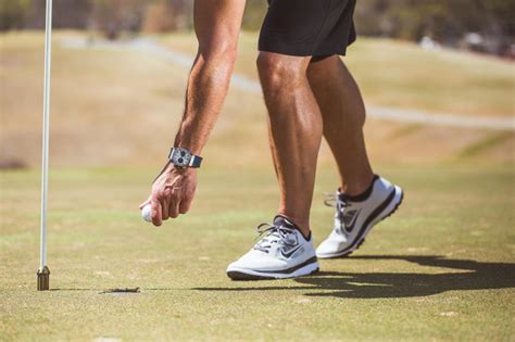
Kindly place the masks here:
[(311, 90), (310, 58), (261, 52), (261, 84), (269, 116), (271, 148), (280, 189), (278, 213), (310, 232), (322, 116)]

